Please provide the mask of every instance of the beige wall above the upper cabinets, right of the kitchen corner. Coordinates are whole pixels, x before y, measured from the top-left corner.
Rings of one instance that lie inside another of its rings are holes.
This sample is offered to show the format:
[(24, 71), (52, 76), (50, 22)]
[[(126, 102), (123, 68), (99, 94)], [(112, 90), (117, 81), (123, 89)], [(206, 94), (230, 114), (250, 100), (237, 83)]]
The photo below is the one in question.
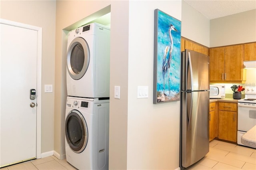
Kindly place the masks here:
[(256, 10), (210, 20), (210, 47), (256, 42)]

